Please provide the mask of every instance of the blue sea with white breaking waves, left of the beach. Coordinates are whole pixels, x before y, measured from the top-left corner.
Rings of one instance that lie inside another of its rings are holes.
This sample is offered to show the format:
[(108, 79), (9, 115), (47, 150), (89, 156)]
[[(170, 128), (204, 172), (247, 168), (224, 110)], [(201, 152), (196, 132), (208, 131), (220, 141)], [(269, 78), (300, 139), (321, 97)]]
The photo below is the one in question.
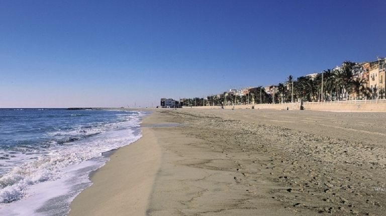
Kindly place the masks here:
[(0, 215), (66, 215), (145, 112), (0, 109)]

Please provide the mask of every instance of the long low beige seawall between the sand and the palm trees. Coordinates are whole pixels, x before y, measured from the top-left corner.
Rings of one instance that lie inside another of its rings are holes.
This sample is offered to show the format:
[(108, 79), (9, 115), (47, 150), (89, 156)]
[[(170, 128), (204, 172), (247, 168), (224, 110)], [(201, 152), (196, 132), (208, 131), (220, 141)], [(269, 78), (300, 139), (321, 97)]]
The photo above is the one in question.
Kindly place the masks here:
[[(224, 109), (252, 109), (251, 105), (229, 105)], [(300, 110), (300, 103), (254, 104), (255, 110)], [(186, 109), (221, 109), (221, 106), (187, 106)], [(305, 110), (332, 112), (386, 112), (386, 103), (338, 104), (338, 103), (304, 103)]]

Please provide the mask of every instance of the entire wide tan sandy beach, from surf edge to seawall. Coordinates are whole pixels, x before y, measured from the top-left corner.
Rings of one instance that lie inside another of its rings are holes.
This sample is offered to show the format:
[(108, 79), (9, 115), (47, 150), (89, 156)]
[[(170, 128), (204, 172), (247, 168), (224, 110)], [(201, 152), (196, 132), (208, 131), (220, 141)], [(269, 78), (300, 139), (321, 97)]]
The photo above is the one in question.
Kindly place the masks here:
[(70, 215), (384, 215), (386, 113), (158, 109)]

